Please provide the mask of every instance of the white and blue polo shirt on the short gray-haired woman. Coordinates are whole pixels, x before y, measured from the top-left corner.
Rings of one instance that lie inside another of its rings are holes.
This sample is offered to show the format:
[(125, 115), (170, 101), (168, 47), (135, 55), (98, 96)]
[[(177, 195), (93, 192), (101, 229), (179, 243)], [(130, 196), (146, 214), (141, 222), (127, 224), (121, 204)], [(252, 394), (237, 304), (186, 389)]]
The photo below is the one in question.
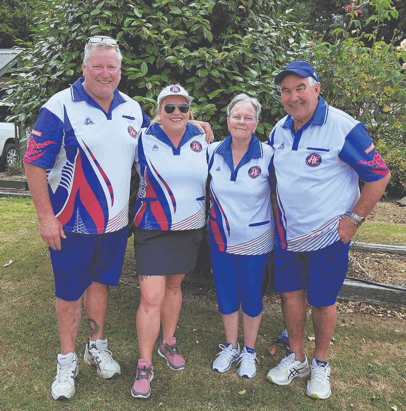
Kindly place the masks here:
[(229, 135), (207, 149), (210, 181), (210, 247), (231, 254), (270, 252), (274, 220), (270, 204), (273, 149), (252, 135), (234, 169)]

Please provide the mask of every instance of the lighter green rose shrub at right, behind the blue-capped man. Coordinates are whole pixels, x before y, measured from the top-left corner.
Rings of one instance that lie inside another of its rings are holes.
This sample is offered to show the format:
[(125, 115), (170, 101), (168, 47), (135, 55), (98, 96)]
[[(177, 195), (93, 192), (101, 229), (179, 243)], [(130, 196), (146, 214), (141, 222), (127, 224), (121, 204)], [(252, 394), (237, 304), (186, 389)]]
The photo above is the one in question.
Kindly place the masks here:
[[(385, 20), (397, 18), (392, 2), (370, 0), (369, 6), (376, 9), (376, 15), (366, 21), (375, 24), (373, 33), (362, 32), (356, 19), (360, 9), (347, 6), (349, 23), (345, 29), (333, 30), (335, 42), (324, 42), (322, 34), (314, 33), (312, 41), (302, 41), (299, 57), (316, 68), (328, 103), (366, 124), (376, 141), (385, 125), (398, 123), (406, 131), (406, 124), (399, 121), (406, 114), (406, 78), (399, 64), (406, 61), (406, 50), (394, 46), (396, 33), (389, 44), (376, 38)], [(367, 40), (372, 46), (365, 45)]]

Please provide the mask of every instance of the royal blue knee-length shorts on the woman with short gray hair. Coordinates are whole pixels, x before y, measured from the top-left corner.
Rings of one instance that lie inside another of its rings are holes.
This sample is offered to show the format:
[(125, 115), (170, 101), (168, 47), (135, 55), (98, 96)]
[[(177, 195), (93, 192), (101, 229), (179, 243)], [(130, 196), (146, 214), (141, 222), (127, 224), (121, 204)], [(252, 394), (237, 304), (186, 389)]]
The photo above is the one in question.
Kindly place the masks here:
[(256, 256), (224, 253), (210, 247), (211, 268), (218, 311), (233, 314), (241, 309), (250, 317), (262, 313), (262, 281), (269, 253)]

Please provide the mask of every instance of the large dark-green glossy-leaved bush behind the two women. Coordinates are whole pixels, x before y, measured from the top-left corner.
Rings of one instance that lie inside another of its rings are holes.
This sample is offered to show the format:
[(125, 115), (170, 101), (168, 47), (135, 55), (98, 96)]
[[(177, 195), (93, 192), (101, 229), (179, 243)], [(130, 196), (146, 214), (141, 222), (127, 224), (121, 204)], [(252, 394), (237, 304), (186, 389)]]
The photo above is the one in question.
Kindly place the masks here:
[(282, 5), (284, 0), (40, 2), (34, 40), (25, 44), (24, 67), (12, 89), (13, 120), (32, 126), (49, 96), (81, 75), (87, 38), (107, 34), (120, 41), (124, 54), (119, 89), (147, 114), (163, 87), (180, 83), (195, 97), (195, 118), (210, 120), (223, 138), (226, 105), (247, 92), (265, 107), (266, 121), (257, 129), (265, 140), (284, 115), (274, 71), (292, 60), (306, 35)]

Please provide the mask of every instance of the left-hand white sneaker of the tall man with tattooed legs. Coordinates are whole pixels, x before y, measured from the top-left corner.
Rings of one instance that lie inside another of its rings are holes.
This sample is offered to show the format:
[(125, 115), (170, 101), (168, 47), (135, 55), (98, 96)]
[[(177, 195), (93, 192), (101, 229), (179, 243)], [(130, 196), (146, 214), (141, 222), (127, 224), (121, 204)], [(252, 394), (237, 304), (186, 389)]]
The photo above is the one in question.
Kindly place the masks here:
[(51, 386), (53, 399), (67, 399), (75, 395), (75, 378), (79, 374), (78, 357), (75, 353), (58, 354), (56, 376)]

